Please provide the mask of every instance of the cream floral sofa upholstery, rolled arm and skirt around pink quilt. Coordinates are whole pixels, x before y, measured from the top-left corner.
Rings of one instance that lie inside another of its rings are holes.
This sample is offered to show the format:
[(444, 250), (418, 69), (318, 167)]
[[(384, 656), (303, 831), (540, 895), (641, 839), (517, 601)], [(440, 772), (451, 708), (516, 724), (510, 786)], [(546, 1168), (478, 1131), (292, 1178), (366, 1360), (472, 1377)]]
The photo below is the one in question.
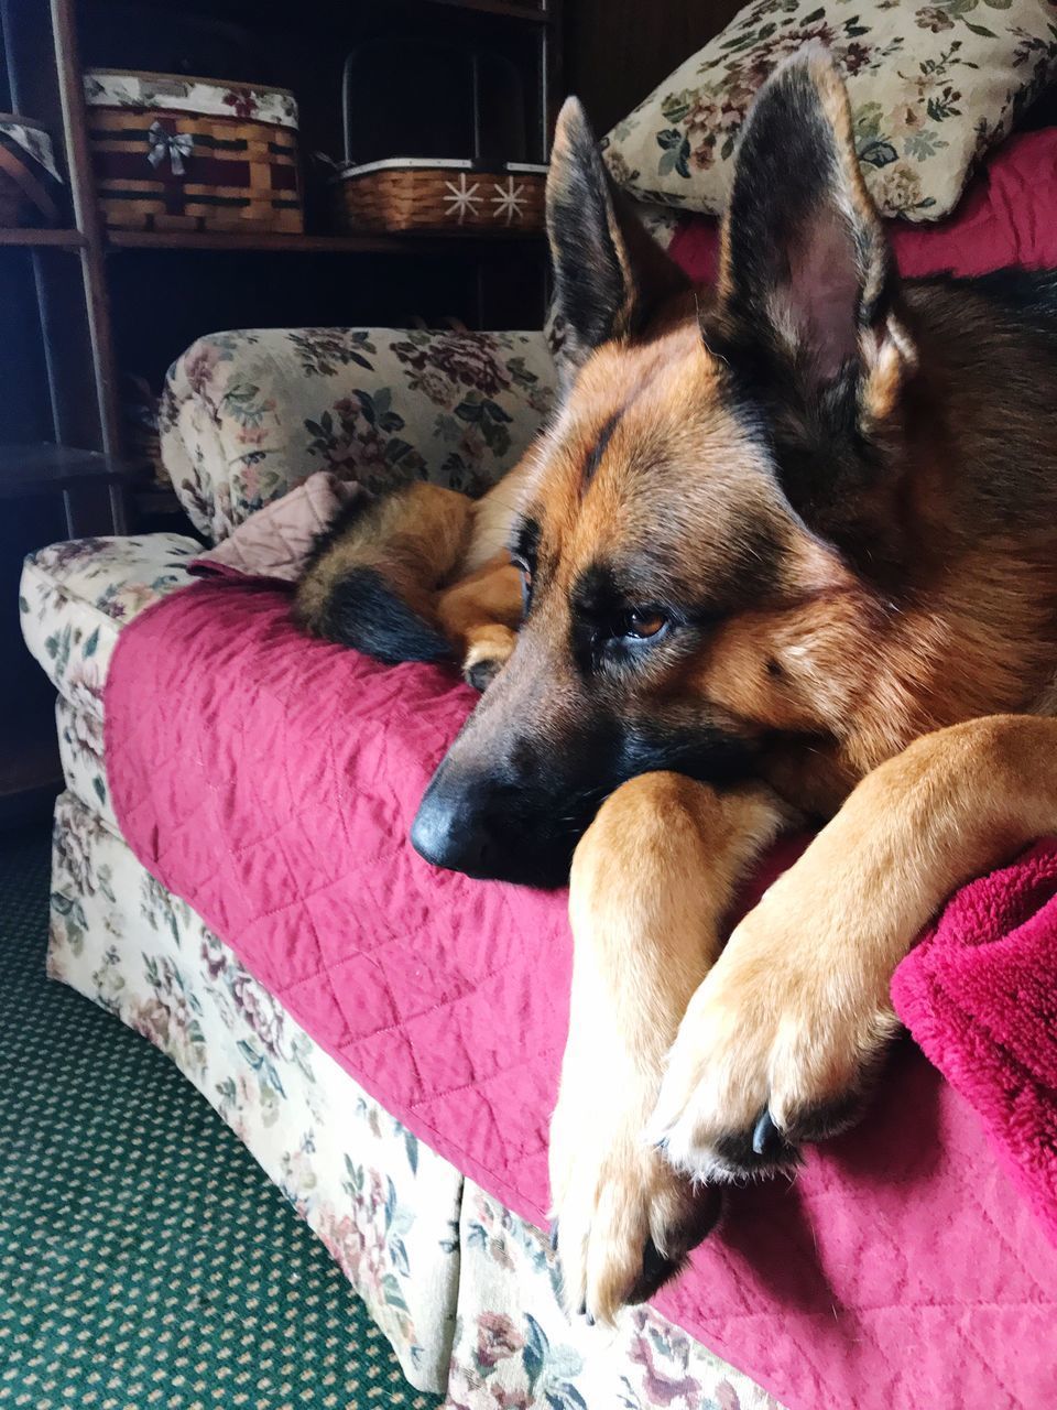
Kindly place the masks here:
[[(258, 330), (169, 372), (162, 453), (199, 533), (224, 539), (317, 470), (471, 492), (510, 468), (557, 384), (543, 333)], [(421, 1390), (472, 1407), (775, 1402), (654, 1308), (617, 1344), (572, 1327), (547, 1238), (389, 1115), (134, 856), (113, 808), (106, 681), (127, 625), (194, 580), (154, 533), (30, 556), (25, 642), (55, 685), (48, 971), (156, 1043), (324, 1241)]]

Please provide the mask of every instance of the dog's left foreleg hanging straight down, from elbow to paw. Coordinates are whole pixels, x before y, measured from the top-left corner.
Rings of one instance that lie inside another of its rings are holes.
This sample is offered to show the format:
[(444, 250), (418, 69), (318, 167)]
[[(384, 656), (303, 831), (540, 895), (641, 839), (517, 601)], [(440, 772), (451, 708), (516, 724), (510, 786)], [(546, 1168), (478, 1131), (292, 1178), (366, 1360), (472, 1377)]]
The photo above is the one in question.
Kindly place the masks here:
[(672, 1273), (717, 1214), (647, 1145), (668, 1048), (715, 960), (738, 877), (782, 822), (762, 788), (679, 774), (619, 788), (572, 863), (574, 974), (551, 1200), (569, 1313), (612, 1320)]

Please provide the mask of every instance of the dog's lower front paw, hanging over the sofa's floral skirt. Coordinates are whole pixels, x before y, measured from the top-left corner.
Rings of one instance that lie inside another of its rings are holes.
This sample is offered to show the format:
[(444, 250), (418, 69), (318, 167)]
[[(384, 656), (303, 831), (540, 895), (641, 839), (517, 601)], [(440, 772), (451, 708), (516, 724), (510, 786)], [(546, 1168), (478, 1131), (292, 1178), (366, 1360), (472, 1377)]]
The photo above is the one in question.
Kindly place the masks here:
[(612, 1323), (682, 1269), (720, 1196), (695, 1190), (643, 1139), (655, 1084), (596, 1070), (593, 1090), (562, 1081), (551, 1122), (552, 1242), (569, 1317)]

